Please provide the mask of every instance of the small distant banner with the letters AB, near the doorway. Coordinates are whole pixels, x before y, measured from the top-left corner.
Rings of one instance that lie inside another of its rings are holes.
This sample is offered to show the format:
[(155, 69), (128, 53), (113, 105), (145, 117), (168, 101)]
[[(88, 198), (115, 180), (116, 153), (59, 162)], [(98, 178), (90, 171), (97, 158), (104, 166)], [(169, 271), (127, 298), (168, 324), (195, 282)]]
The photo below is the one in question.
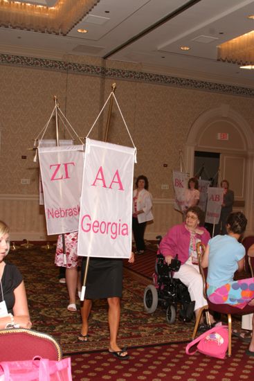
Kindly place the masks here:
[(223, 203), (223, 188), (208, 187), (208, 200), (206, 206), (206, 222), (217, 224), (221, 215), (221, 204)]

